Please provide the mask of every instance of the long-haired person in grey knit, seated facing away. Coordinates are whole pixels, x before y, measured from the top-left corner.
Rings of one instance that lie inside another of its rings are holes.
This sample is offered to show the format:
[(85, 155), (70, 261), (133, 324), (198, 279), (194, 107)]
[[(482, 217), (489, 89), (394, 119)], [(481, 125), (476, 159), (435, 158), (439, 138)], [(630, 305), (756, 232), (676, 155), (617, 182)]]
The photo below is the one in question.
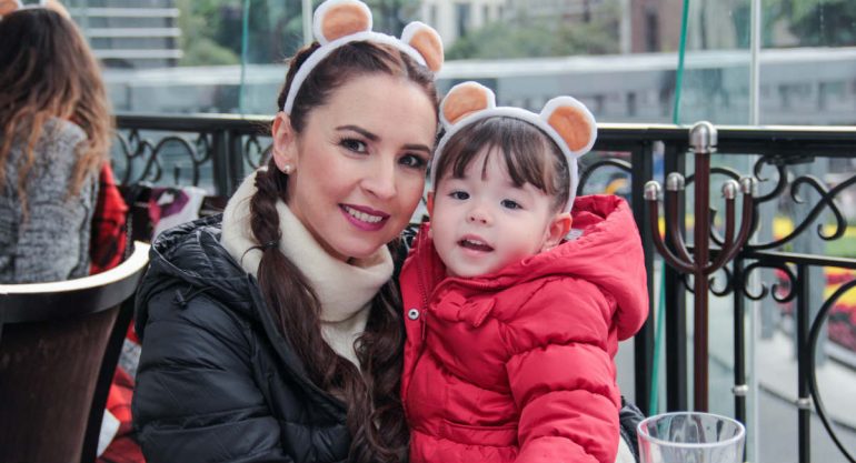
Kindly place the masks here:
[(58, 3), (0, 17), (0, 283), (86, 276), (112, 125), (100, 69)]

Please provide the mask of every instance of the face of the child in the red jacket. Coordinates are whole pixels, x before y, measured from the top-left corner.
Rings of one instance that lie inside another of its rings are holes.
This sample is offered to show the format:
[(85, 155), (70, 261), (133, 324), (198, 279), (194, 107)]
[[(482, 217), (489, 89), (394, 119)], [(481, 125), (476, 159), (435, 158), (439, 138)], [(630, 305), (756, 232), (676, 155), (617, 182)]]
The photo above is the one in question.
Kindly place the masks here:
[(570, 215), (556, 213), (553, 201), (529, 183), (515, 187), (501, 152), (482, 150), (462, 179), (446, 173), (428, 208), (434, 244), (448, 274), (494, 273), (558, 244), (570, 227)]

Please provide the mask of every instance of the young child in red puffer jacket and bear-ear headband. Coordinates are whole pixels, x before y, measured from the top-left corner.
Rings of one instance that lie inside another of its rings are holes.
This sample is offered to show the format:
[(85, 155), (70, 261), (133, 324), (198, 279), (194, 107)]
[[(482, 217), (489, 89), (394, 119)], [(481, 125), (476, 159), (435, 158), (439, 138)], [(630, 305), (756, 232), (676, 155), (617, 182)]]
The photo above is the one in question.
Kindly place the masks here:
[(613, 463), (613, 358), (648, 312), (636, 224), (620, 198), (575, 201), (581, 103), (494, 100), (465, 82), (441, 103), (431, 223), (400, 275), (410, 461)]

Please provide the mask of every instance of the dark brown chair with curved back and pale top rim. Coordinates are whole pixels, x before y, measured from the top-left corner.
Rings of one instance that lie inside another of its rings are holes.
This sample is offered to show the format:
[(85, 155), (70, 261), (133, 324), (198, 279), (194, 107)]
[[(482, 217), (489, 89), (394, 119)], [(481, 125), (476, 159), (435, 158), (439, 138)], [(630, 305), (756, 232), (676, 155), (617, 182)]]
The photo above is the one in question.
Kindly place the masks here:
[(103, 273), (0, 284), (0, 462), (94, 462), (149, 245)]

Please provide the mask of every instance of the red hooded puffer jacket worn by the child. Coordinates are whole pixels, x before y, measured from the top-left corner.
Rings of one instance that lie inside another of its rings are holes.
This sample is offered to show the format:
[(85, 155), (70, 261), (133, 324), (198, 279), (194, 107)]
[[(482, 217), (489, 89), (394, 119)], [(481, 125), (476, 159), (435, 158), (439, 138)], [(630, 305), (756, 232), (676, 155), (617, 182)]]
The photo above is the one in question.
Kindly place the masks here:
[(645, 261), (624, 200), (574, 211), (578, 239), (474, 279), (420, 230), (400, 276), (412, 463), (615, 461), (613, 356), (647, 318)]

